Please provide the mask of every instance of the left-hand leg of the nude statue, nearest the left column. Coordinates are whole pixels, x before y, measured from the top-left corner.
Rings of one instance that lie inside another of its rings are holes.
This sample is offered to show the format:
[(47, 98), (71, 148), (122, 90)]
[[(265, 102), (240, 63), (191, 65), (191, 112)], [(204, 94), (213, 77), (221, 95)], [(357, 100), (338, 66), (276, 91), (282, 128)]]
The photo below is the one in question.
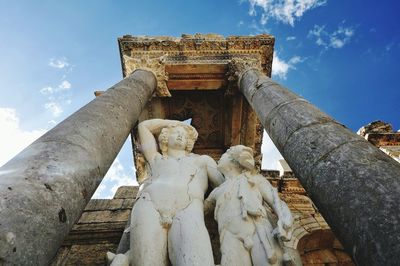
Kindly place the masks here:
[(148, 194), (136, 201), (131, 214), (130, 261), (137, 266), (168, 265), (167, 229)]

